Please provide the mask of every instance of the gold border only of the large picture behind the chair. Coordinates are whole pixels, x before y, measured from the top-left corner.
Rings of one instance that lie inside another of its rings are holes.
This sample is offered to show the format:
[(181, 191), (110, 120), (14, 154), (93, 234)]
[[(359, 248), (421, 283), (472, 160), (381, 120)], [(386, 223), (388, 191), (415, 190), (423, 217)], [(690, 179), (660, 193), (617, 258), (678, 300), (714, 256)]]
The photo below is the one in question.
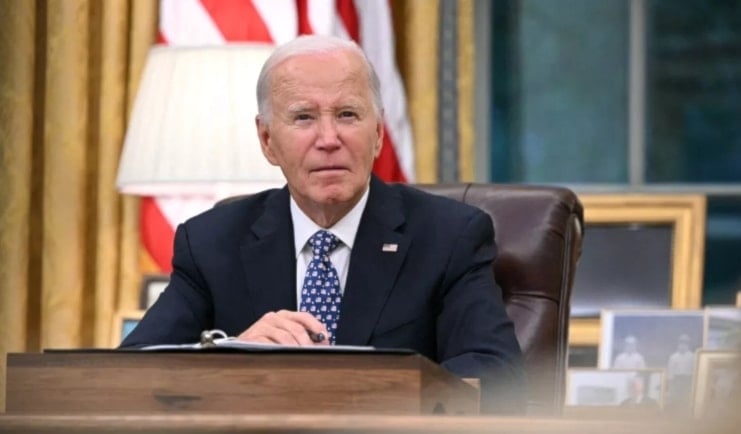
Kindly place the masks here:
[[(672, 227), (668, 308), (699, 308), (705, 253), (707, 199), (702, 194), (579, 194), (589, 225), (669, 224)], [(599, 318), (571, 318), (569, 344), (599, 344)]]

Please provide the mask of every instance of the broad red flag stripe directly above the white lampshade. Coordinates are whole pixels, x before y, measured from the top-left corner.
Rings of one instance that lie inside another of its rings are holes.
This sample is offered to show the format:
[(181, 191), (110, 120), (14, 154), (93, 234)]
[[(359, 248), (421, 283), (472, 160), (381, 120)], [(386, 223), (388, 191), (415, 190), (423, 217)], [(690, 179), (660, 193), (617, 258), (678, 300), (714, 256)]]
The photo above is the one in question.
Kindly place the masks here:
[(201, 4), (227, 41), (273, 42), (252, 0), (201, 0)]

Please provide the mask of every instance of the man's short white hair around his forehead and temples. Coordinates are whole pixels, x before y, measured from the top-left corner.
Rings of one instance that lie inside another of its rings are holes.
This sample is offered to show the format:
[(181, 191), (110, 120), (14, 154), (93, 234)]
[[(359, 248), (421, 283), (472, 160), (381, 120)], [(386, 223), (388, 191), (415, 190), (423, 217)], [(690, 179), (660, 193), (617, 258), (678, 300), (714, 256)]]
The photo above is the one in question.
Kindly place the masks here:
[(295, 56), (312, 53), (331, 53), (340, 50), (355, 53), (362, 59), (373, 96), (373, 110), (380, 119), (383, 113), (381, 82), (378, 80), (378, 75), (375, 69), (373, 69), (373, 65), (371, 65), (368, 57), (363, 52), (363, 49), (354, 41), (336, 36), (303, 35), (276, 48), (270, 57), (268, 57), (268, 60), (265, 61), (262, 70), (260, 70), (260, 76), (257, 79), (257, 109), (263, 122), (269, 124), (272, 117), (270, 86), (273, 70), (276, 65)]

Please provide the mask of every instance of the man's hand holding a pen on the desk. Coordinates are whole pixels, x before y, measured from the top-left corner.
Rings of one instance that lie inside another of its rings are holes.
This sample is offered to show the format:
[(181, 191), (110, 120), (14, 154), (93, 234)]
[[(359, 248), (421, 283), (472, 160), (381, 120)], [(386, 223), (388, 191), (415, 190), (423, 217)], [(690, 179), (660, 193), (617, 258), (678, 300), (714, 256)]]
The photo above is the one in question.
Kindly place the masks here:
[(329, 345), (326, 327), (308, 312), (268, 312), (237, 339), (279, 345)]

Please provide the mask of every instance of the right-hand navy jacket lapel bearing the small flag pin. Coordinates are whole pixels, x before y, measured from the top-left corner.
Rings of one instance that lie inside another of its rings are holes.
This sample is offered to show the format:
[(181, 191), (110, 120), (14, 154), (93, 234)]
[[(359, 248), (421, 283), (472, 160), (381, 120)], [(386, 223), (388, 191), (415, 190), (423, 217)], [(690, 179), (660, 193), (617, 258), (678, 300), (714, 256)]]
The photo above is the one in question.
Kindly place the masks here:
[(350, 255), (338, 344), (369, 342), (409, 249), (411, 240), (400, 230), (404, 221), (400, 195), (371, 178), (368, 203)]

